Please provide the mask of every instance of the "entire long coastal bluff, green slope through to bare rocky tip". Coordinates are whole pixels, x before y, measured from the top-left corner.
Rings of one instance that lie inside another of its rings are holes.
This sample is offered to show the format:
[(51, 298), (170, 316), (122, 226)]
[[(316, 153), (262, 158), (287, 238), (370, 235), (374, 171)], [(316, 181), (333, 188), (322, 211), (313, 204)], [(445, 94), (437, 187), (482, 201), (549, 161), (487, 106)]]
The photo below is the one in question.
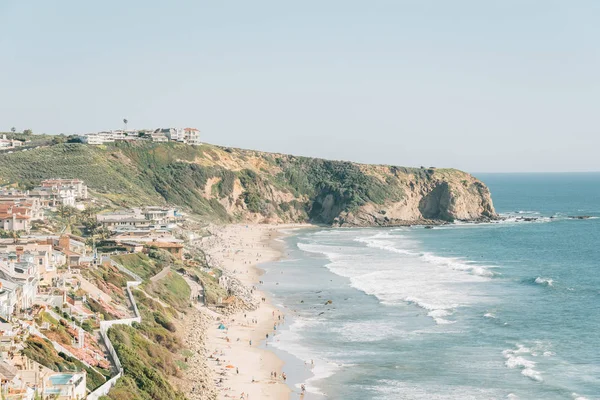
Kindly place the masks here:
[(24, 188), (78, 178), (118, 206), (172, 204), (214, 222), (397, 226), (497, 218), (489, 189), (446, 168), (330, 161), (202, 144), (57, 143), (0, 157)]

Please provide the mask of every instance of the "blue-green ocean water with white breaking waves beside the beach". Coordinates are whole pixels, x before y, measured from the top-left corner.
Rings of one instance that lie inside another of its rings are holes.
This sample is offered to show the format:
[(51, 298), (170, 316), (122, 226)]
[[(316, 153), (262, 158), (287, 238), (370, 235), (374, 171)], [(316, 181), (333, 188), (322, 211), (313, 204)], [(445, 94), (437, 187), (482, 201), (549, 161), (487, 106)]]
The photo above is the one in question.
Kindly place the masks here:
[(600, 174), (479, 177), (505, 221), (285, 239), (268, 345), (305, 400), (600, 399)]

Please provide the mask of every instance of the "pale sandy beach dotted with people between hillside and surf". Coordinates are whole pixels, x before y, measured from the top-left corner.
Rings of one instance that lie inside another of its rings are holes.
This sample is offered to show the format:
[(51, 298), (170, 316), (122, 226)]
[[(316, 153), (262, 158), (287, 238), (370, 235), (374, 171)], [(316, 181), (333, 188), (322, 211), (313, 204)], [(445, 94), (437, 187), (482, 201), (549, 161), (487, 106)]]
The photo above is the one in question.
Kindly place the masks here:
[[(257, 265), (281, 258), (283, 245), (275, 239), (283, 236), (280, 230), (298, 227), (306, 225), (228, 225), (211, 228), (212, 235), (203, 239), (201, 247), (211, 263), (252, 287), (259, 304), (254, 311), (220, 318), (211, 315), (205, 348), (219, 399), (290, 398), (291, 390), (283, 379), (284, 363), (259, 348), (267, 335), (272, 337), (285, 323), (285, 316), (259, 290), (262, 271)], [(226, 329), (219, 329), (221, 323)]]

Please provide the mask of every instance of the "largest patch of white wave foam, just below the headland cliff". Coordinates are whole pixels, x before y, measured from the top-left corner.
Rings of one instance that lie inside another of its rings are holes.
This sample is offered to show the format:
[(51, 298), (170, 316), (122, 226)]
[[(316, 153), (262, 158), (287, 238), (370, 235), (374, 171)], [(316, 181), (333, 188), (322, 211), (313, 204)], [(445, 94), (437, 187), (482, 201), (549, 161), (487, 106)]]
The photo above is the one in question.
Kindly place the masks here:
[(369, 236), (361, 232), (358, 237), (348, 240), (399, 254), (399, 257), (365, 252), (363, 247), (342, 246), (339, 241), (331, 245), (321, 240), (318, 243), (300, 242), (298, 247), (325, 255), (331, 261), (326, 268), (348, 278), (352, 287), (377, 297), (382, 304), (414, 304), (427, 310), (428, 316), (438, 325), (454, 323), (454, 318), (447, 317), (460, 307), (485, 301), (485, 294), (470, 284), (487, 282), (493, 275), (487, 267), (415, 251), (418, 249), (411, 247), (415, 242), (390, 231)]

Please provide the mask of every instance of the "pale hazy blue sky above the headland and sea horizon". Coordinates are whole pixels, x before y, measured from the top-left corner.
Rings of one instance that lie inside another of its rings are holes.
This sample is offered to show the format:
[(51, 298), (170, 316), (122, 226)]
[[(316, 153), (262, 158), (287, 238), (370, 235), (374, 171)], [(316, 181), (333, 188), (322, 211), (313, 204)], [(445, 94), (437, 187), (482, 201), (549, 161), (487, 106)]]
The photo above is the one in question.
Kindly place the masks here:
[(600, 171), (600, 1), (0, 0), (0, 131)]

